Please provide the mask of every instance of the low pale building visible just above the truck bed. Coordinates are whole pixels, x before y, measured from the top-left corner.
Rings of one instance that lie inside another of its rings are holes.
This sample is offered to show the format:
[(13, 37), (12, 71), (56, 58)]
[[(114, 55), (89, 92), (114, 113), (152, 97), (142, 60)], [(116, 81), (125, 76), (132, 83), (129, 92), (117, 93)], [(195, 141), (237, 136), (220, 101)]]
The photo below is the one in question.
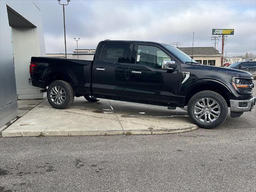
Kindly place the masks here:
[[(75, 49), (74, 53), (67, 54), (67, 59), (93, 60), (96, 49)], [(47, 57), (65, 58), (65, 54), (46, 54)]]

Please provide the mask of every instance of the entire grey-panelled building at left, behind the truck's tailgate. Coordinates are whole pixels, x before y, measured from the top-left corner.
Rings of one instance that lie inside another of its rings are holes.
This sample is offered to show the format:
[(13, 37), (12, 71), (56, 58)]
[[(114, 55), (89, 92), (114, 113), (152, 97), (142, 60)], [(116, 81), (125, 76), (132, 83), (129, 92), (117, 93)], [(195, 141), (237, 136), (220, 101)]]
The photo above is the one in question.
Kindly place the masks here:
[(45, 56), (37, 0), (0, 1), (0, 127), (17, 116), (17, 99), (44, 98), (30, 86), (32, 56)]

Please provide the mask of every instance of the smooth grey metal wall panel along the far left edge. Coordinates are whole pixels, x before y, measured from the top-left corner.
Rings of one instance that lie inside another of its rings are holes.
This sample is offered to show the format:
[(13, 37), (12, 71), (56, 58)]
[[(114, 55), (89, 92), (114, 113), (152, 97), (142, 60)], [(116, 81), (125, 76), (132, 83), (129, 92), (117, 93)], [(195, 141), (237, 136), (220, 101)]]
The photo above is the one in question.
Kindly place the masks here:
[(6, 2), (0, 1), (0, 127), (17, 116), (17, 93)]

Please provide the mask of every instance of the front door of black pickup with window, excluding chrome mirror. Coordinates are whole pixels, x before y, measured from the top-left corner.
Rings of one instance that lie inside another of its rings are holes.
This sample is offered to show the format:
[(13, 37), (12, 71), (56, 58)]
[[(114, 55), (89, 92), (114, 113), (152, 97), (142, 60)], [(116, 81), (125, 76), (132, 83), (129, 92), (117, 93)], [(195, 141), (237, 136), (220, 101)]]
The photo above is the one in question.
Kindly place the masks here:
[[(157, 45), (135, 44), (129, 68), (128, 96), (151, 102), (176, 102), (180, 63)], [(163, 60), (178, 63), (175, 70), (162, 69)]]

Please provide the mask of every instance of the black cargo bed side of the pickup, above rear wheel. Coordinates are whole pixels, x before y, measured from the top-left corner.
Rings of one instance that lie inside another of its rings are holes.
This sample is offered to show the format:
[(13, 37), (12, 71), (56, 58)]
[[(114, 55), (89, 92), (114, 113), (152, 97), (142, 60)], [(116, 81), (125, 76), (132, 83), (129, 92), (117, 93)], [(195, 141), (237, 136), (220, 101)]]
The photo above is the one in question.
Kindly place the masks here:
[(31, 74), (33, 86), (46, 88), (51, 78), (61, 76), (74, 86), (77, 93), (90, 93), (91, 60), (32, 57), (33, 62), (37, 63), (36, 71)]

